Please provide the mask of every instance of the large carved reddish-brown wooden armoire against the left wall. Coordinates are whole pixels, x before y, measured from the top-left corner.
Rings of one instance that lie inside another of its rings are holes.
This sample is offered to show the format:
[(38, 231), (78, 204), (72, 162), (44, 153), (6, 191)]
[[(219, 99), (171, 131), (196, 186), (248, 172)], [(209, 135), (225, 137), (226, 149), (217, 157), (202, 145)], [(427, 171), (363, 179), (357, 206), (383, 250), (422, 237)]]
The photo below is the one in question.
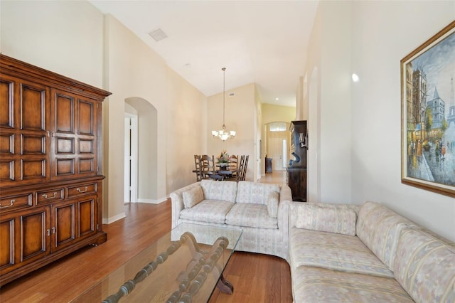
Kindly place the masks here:
[(108, 95), (0, 54), (0, 286), (107, 240), (101, 107)]

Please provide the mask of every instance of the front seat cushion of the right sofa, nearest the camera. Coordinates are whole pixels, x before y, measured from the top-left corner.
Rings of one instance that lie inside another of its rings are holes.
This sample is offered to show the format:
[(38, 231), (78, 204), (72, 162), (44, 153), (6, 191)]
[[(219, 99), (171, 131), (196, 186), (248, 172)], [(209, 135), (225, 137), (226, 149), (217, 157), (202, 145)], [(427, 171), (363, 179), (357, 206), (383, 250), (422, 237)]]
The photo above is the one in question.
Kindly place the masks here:
[(302, 266), (292, 275), (294, 302), (414, 302), (397, 280)]

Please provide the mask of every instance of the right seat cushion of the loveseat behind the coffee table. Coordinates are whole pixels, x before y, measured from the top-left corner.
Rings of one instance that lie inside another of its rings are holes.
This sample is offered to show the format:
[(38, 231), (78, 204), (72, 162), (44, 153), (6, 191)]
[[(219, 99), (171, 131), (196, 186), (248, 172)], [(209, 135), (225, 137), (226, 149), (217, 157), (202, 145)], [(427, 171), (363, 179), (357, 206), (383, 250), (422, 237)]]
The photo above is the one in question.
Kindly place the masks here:
[(269, 216), (266, 205), (249, 203), (235, 203), (226, 216), (226, 224), (254, 228), (278, 228), (277, 218)]

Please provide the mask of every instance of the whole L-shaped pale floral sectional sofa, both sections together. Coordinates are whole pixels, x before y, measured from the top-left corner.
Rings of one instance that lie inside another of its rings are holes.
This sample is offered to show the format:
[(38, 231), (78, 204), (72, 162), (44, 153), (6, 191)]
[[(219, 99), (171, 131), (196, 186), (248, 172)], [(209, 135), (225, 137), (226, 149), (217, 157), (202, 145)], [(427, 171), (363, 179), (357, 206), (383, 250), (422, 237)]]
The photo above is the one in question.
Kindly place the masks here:
[(380, 203), (292, 202), (288, 186), (208, 180), (171, 200), (173, 228), (242, 228), (236, 250), (286, 259), (295, 303), (455, 302), (455, 243)]

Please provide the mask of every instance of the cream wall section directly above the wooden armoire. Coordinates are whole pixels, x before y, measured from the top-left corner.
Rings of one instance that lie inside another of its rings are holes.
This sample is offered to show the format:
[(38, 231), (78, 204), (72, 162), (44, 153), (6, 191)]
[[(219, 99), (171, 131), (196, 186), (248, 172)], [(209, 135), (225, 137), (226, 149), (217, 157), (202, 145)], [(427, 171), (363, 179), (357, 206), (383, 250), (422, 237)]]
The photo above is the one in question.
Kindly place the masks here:
[(102, 87), (102, 20), (85, 1), (1, 1), (0, 51)]

